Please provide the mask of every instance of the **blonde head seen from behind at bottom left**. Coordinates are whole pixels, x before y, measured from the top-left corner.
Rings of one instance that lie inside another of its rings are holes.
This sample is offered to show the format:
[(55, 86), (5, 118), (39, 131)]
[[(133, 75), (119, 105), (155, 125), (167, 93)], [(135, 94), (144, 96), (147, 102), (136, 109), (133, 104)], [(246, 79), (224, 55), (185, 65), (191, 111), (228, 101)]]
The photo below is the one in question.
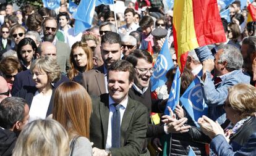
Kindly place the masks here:
[(14, 156), (67, 156), (69, 136), (55, 120), (35, 120), (28, 123), (17, 139)]

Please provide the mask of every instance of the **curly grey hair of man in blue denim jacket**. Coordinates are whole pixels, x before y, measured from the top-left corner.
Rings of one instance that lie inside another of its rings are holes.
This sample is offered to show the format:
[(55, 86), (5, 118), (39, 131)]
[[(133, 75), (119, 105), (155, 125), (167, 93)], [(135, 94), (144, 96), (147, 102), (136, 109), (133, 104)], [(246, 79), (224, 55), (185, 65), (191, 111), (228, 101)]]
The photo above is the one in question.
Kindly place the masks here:
[(218, 47), (218, 49), (223, 50), (223, 54), (221, 54), (218, 63), (222, 64), (224, 61), (226, 61), (228, 63), (226, 69), (230, 71), (242, 68), (244, 60), (242, 59), (242, 54), (237, 47), (226, 44), (221, 45), (220, 47)]

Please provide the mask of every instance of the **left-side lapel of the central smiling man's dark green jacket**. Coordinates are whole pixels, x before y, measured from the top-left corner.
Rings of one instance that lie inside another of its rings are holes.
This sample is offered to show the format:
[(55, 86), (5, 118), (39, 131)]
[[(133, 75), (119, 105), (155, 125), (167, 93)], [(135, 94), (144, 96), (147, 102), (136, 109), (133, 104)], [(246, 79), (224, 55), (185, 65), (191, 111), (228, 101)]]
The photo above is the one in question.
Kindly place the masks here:
[(101, 96), (103, 96), (103, 97), (99, 104), (100, 118), (101, 118), (101, 123), (103, 126), (104, 144), (106, 145), (106, 139), (108, 137), (109, 102), (108, 102), (108, 94), (103, 94)]

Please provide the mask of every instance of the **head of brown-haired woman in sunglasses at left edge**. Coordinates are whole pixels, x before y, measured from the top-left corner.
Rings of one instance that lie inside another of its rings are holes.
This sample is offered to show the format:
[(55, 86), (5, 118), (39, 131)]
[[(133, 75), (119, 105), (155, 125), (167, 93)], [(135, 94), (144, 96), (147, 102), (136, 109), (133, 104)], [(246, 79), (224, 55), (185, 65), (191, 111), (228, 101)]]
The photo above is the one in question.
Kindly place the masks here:
[(0, 62), (0, 71), (6, 79), (9, 90), (12, 90), (12, 84), (14, 83), (14, 78), (17, 73), (22, 71), (22, 66), (19, 60), (15, 56), (7, 56)]

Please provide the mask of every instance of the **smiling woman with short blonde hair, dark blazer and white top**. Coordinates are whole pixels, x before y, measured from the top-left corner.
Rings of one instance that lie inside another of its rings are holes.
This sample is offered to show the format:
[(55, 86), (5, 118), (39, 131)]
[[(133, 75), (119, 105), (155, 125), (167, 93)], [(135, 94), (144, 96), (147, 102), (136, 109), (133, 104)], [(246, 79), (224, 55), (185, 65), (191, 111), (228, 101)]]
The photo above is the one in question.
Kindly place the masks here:
[(55, 91), (52, 83), (59, 81), (61, 68), (56, 59), (46, 56), (33, 61), (30, 71), (35, 86), (24, 86), (15, 96), (28, 102), (30, 121), (45, 119), (52, 113)]

